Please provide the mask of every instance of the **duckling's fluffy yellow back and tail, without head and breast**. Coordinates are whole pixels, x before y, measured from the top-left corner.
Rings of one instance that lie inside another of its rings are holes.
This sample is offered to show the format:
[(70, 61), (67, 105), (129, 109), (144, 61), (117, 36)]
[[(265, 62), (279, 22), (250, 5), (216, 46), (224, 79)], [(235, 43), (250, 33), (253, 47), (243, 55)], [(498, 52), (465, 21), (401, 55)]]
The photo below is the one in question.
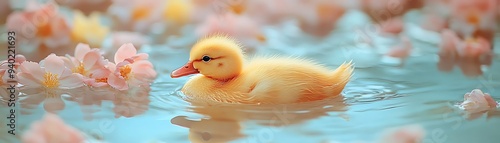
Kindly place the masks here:
[(350, 80), (352, 64), (336, 70), (299, 58), (255, 58), (238, 77), (240, 87), (256, 102), (292, 103), (339, 95)]

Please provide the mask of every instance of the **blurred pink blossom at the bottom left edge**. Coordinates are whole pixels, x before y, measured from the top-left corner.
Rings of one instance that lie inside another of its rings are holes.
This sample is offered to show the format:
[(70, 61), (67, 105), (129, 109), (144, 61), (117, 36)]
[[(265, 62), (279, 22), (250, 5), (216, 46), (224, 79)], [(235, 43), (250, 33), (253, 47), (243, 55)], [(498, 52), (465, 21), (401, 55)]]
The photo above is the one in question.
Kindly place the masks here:
[(83, 143), (83, 133), (66, 125), (57, 115), (47, 113), (34, 122), (21, 138), (23, 143)]

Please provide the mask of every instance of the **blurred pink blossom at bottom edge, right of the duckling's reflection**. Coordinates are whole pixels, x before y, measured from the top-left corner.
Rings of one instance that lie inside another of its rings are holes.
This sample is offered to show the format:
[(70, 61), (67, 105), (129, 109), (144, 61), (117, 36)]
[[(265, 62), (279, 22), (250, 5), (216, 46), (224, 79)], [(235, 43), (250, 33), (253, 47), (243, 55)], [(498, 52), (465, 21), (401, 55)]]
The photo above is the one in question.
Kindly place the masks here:
[(418, 143), (422, 142), (425, 130), (421, 126), (409, 125), (388, 129), (380, 143)]

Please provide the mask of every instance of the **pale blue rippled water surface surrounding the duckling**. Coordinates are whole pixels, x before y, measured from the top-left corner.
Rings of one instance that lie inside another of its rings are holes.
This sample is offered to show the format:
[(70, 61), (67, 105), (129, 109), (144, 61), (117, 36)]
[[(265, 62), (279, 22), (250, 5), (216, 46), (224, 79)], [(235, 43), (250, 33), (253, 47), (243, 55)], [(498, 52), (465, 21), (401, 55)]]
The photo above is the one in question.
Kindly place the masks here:
[[(58, 110), (65, 122), (92, 138), (108, 142), (367, 142), (377, 140), (387, 128), (410, 124), (425, 128), (426, 143), (500, 140), (499, 110), (468, 114), (455, 106), (474, 88), (500, 100), (498, 52), (482, 76), (471, 78), (457, 68), (451, 72), (439, 71), (436, 43), (426, 41), (432, 35), (411, 33), (411, 29), (409, 35), (414, 34), (415, 51), (399, 66), (377, 54), (380, 51), (370, 51), (373, 49), (360, 44), (349, 29), (337, 31), (324, 40), (311, 40), (297, 36), (289, 28), (284, 25), (282, 29), (267, 30), (269, 44), (258, 47), (256, 54), (302, 56), (332, 69), (353, 59), (355, 75), (344, 89), (343, 97), (289, 105), (195, 106), (183, 100), (184, 95), (179, 92), (188, 78), (170, 78), (170, 72), (187, 60), (189, 49), (147, 45), (141, 52), (150, 54), (159, 73), (150, 88), (129, 93), (85, 88), (62, 91), (60, 97), (53, 98), (63, 99), (63, 107), (44, 107), (44, 102), (59, 100), (41, 102), (44, 94), (23, 91), (26, 92), (23, 98), (31, 97), (41, 103), (21, 102), (17, 107), (20, 111), (17, 130), (25, 131), (49, 109)], [(375, 43), (378, 47), (388, 47), (391, 40), (378, 38)], [(497, 51), (499, 48), (496, 47)], [(8, 108), (0, 110), (7, 116)], [(1, 124), (6, 124), (6, 118), (1, 119)], [(6, 130), (5, 126), (1, 129)], [(2, 135), (0, 142), (18, 142), (17, 137)]]

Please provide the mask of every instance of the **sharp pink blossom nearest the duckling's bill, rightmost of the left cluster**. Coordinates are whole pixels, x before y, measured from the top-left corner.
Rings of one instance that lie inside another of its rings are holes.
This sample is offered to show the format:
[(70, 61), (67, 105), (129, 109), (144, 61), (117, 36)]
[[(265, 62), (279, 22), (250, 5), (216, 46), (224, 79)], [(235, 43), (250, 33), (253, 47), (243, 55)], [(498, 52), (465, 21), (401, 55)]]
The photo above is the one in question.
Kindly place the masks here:
[(108, 84), (118, 90), (127, 90), (129, 85), (151, 82), (156, 77), (156, 71), (147, 59), (148, 54), (137, 54), (134, 45), (122, 45), (115, 54), (116, 65), (109, 65), (112, 73), (108, 77)]

